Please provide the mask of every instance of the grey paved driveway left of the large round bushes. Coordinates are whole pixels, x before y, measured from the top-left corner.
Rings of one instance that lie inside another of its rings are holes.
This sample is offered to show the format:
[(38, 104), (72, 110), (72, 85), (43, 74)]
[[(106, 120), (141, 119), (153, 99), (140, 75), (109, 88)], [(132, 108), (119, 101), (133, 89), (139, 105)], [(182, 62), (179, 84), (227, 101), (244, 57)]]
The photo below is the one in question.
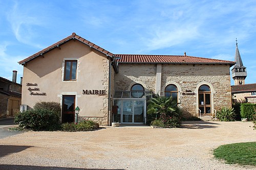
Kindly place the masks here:
[(13, 126), (15, 126), (13, 117), (1, 118), (0, 119), (0, 139), (22, 133), (22, 132), (16, 132), (16, 131), (9, 131), (8, 129)]

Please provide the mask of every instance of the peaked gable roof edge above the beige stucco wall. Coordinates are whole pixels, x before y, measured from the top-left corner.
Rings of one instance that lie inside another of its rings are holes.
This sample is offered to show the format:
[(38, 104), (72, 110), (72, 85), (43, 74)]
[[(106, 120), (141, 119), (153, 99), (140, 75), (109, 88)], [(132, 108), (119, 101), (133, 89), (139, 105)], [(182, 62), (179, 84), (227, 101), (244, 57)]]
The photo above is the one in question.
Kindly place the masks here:
[(98, 50), (99, 52), (104, 53), (105, 55), (113, 56), (113, 53), (110, 53), (109, 51), (104, 50), (104, 49), (101, 48), (100, 46), (98, 46), (98, 45), (96, 45), (96, 44), (94, 44), (94, 43), (92, 43), (92, 42), (90, 42), (90, 41), (88, 41), (88, 40), (86, 40), (86, 39), (84, 39), (84, 38), (82, 38), (82, 37), (76, 35), (76, 33), (72, 33), (72, 35), (70, 35), (70, 36), (68, 36), (68, 37), (66, 37), (66, 38), (64, 38), (64, 39), (62, 39), (62, 40), (60, 40), (60, 41), (58, 41), (58, 42), (56, 42), (56, 43), (54, 43), (54, 44), (48, 46), (48, 47), (45, 48), (44, 50), (41, 50), (41, 51), (39, 51), (39, 52), (33, 54), (32, 56), (29, 56), (28, 58), (26, 58), (26, 59), (24, 59), (24, 60), (22, 60), (22, 61), (19, 61), (18, 63), (19, 63), (19, 64), (25, 64), (26, 62), (28, 62), (28, 61), (30, 61), (30, 60), (32, 60), (32, 59), (34, 59), (34, 58), (36, 58), (36, 57), (38, 57), (38, 56), (44, 54), (44, 53), (47, 53), (47, 52), (50, 51), (50, 50), (53, 50), (54, 48), (58, 47), (58, 45), (61, 45), (61, 44), (63, 44), (63, 43), (66, 43), (67, 41), (69, 41), (69, 40), (71, 40), (71, 39), (77, 39), (77, 40), (83, 42), (84, 44), (87, 44), (87, 45), (89, 45), (90, 47), (95, 48), (95, 49)]

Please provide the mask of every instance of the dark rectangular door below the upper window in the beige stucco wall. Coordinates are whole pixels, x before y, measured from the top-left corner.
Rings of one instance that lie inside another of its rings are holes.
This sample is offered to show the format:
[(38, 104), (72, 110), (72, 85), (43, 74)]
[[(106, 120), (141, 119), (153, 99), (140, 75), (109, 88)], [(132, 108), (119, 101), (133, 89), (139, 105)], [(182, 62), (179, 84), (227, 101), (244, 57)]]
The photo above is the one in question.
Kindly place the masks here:
[(75, 95), (62, 96), (62, 123), (72, 123), (75, 120)]

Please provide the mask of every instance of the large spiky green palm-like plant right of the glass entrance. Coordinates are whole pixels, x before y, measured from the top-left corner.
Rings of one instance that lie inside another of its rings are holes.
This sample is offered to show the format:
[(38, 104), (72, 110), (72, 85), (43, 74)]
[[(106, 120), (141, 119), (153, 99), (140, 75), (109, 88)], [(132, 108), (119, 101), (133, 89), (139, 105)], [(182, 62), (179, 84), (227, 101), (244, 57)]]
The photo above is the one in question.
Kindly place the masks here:
[(181, 111), (177, 106), (177, 101), (173, 100), (172, 97), (166, 98), (160, 96), (158, 98), (152, 98), (147, 107), (147, 114), (155, 114), (156, 119), (158, 117), (165, 119), (166, 116), (176, 116), (180, 118), (180, 113)]

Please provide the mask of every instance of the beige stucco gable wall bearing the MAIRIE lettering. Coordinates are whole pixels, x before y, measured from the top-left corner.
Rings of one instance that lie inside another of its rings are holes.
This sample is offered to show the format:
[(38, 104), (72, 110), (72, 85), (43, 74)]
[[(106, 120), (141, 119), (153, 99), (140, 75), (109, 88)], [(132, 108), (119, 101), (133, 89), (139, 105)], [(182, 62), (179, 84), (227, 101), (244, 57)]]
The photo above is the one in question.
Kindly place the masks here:
[[(65, 60), (78, 60), (77, 81), (63, 81)], [(27, 83), (37, 83), (46, 96), (30, 95)], [(37, 57), (24, 66), (22, 104), (33, 107), (36, 102), (62, 104), (62, 95), (76, 95), (79, 116), (93, 117), (108, 124), (109, 59), (89, 46), (71, 40), (44, 57)], [(106, 90), (105, 95), (84, 95), (82, 90)]]

